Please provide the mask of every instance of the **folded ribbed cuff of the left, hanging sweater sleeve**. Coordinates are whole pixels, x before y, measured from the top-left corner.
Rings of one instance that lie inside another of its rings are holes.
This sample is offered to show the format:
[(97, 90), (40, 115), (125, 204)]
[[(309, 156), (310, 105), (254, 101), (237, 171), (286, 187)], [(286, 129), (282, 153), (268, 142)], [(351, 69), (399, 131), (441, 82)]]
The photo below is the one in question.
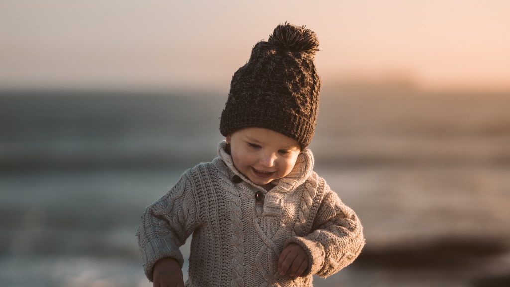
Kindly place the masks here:
[(183, 254), (171, 239), (170, 236), (162, 238), (156, 238), (155, 240), (149, 241), (142, 248), (142, 261), (145, 275), (150, 281), (153, 281), (154, 274), (152, 273), (156, 262), (165, 257), (172, 257), (179, 262), (181, 268), (184, 265)]

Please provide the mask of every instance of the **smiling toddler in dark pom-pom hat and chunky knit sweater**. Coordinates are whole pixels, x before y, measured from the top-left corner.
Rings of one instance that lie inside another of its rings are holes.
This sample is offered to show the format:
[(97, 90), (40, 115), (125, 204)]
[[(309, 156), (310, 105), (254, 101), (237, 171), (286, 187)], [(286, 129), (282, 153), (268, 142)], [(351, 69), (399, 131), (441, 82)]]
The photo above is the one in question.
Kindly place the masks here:
[[(314, 171), (321, 82), (314, 32), (289, 23), (253, 46), (220, 117), (218, 157), (147, 207), (137, 237), (154, 286), (313, 286), (365, 243), (356, 214)], [(179, 251), (193, 234), (189, 279)]]

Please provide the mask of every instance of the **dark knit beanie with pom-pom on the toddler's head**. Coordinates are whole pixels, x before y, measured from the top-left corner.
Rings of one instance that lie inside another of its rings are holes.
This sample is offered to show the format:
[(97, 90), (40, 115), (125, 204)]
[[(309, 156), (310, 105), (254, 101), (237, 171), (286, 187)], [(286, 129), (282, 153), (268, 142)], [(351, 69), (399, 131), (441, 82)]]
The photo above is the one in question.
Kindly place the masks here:
[(246, 127), (272, 129), (308, 147), (317, 123), (321, 82), (314, 65), (319, 41), (310, 29), (285, 23), (253, 46), (230, 84), (221, 112), (226, 136)]

